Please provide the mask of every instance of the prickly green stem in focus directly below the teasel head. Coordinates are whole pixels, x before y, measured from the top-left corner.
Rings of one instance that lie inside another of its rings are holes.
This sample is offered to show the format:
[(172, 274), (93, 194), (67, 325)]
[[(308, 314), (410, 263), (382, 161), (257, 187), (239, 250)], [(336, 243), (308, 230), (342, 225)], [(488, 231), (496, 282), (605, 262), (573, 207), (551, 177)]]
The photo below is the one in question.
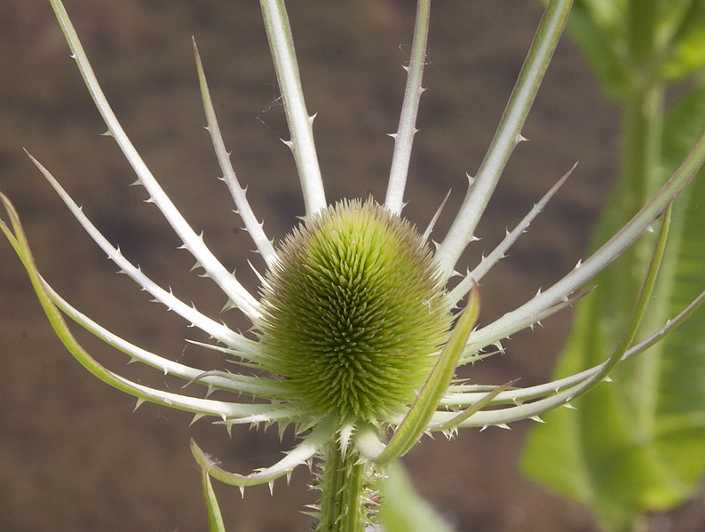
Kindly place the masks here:
[(343, 457), (340, 446), (331, 443), (321, 467), (321, 514), (316, 532), (364, 532), (369, 466), (359, 464), (354, 454)]

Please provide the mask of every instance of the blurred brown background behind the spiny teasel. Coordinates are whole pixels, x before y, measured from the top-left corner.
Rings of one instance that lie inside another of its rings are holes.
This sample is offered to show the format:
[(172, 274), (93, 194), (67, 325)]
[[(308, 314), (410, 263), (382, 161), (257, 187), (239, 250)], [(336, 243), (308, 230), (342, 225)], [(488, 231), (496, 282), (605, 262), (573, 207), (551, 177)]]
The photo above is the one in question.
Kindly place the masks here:
[[(329, 202), (384, 200), (415, 3), (404, 0), (289, 3), (307, 104)], [(435, 234), (442, 238), (477, 171), (541, 18), (537, 3), (446, 0), (432, 8), (428, 66), (409, 171), (405, 215), (423, 230), (452, 190)], [(205, 123), (194, 36), (235, 171), (265, 231), (281, 239), (304, 213), (261, 13), (254, 2), (67, 0), (107, 98), (162, 187), (239, 279), (257, 291), (249, 237), (234, 215)], [(619, 116), (565, 37), (524, 135), (479, 226), (481, 240), (460, 268), (489, 252), (575, 161), (574, 176), (481, 286), (489, 322), (570, 270), (616, 176)], [(213, 283), (189, 274), (193, 259), (153, 205), (105, 130), (83, 87), (48, 2), (0, 5), (0, 189), (20, 212), (36, 260), (59, 293), (108, 329), (155, 353), (223, 368), (222, 358), (186, 345), (205, 341), (178, 316), (148, 302), (67, 213), (22, 152), (26, 147), (67, 188), (128, 258), (162, 286), (212, 317), (225, 303)], [(237, 311), (222, 319), (247, 330)], [(551, 376), (571, 314), (525, 332), (508, 353), (468, 369), (475, 383)], [(76, 331), (77, 333), (81, 331)], [(100, 361), (140, 382), (180, 383), (78, 335)], [(270, 465), (276, 432), (235, 428), (232, 438), (186, 413), (144, 405), (100, 383), (54, 337), (27, 276), (0, 242), (0, 529), (191, 531), (207, 528), (194, 437), (226, 468)], [(405, 459), (418, 490), (463, 530), (575, 530), (594, 525), (581, 507), (521, 478), (518, 457), (530, 422), (511, 431), (428, 438)], [(216, 486), (229, 530), (304, 530), (313, 503), (304, 468), (273, 496)], [(677, 519), (677, 515), (674, 519)], [(676, 521), (677, 522), (677, 521)], [(686, 528), (677, 528), (683, 529)], [(698, 528), (687, 528), (696, 530)]]

